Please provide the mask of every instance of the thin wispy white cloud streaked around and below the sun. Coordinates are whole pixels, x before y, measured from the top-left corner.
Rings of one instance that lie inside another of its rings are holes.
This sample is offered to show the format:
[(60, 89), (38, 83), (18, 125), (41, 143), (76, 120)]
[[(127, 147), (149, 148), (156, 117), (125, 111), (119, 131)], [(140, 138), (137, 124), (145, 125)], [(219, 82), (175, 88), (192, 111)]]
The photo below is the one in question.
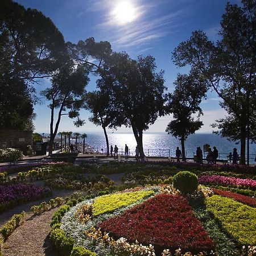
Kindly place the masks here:
[(180, 27), (185, 24), (184, 17), (188, 13), (185, 9), (174, 11), (170, 14), (161, 13), (159, 6), (162, 6), (162, 11), (164, 11), (163, 5), (167, 3), (168, 1), (160, 4), (147, 2), (144, 5), (138, 5), (137, 2), (137, 6), (134, 4), (137, 19), (123, 26), (120, 26), (111, 15), (111, 10), (114, 6), (113, 1), (89, 1), (86, 10), (102, 11), (102, 22), (98, 23), (95, 28), (99, 34), (111, 42), (113, 47), (153, 48), (152, 45), (148, 46), (148, 44), (179, 31)]

